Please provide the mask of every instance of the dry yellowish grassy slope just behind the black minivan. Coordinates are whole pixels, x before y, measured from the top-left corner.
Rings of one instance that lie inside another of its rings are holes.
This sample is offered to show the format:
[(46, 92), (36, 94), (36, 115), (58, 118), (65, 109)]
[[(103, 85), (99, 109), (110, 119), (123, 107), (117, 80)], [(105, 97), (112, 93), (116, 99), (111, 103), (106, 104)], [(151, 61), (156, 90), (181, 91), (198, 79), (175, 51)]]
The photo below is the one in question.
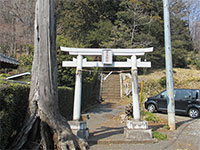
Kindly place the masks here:
[[(200, 89), (200, 70), (174, 68), (174, 88)], [(139, 83), (144, 81), (143, 102), (166, 89), (165, 70), (156, 70), (148, 75), (140, 75)]]

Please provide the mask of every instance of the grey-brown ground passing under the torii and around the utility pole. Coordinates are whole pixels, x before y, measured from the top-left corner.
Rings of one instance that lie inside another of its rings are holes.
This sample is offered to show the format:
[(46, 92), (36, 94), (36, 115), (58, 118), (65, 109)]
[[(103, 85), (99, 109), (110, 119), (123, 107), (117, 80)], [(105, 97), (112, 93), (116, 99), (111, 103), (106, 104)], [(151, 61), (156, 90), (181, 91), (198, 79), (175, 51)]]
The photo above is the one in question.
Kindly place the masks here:
[[(191, 119), (187, 116), (176, 116), (175, 131), (158, 129), (159, 132), (167, 134), (168, 140), (146, 144), (109, 143), (110, 139), (124, 139), (122, 137), (124, 124), (119, 117), (123, 111), (123, 105), (105, 103), (88, 112), (89, 140), (97, 141), (97, 143), (89, 142), (91, 150), (200, 150), (200, 119)], [(167, 114), (156, 113), (156, 115), (167, 120)], [(108, 142), (105, 142), (106, 140)], [(104, 142), (100, 144), (98, 141)]]

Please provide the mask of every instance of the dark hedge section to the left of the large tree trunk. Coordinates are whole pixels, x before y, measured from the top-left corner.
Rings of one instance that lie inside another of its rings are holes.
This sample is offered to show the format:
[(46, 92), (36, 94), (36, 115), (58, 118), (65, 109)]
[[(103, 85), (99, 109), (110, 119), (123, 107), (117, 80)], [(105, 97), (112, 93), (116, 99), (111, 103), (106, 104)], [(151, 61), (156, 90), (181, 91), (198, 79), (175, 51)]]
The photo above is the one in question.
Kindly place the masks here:
[(28, 106), (29, 87), (0, 85), (0, 149), (5, 149), (21, 128)]

